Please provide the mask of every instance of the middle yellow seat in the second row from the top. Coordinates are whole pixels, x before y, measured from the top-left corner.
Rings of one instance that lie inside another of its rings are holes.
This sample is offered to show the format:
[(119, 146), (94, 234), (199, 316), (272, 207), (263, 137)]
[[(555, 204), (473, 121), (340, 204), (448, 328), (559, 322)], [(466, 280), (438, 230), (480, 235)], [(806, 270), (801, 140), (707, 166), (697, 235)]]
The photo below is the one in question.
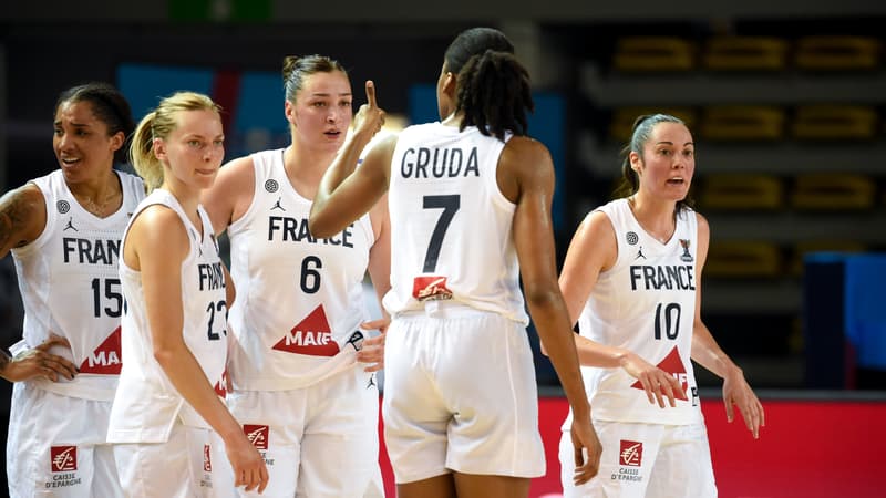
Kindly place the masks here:
[(704, 110), (701, 136), (712, 141), (776, 141), (784, 135), (784, 111), (765, 105), (715, 105)]

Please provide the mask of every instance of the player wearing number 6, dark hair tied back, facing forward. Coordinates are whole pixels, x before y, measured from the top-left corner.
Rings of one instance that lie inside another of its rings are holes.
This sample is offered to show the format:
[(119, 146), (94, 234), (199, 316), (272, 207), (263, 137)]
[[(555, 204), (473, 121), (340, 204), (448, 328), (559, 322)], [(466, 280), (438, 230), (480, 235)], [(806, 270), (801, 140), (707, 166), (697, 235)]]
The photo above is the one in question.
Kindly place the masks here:
[[(369, 338), (363, 278), (390, 288), (384, 201), (336, 234), (308, 231), (323, 173), (351, 125), (344, 68), (322, 55), (284, 61), (291, 145), (225, 165), (204, 195), (228, 231), (239, 299), (228, 406), (268, 461), (271, 497), (382, 497), (379, 392), (382, 336)], [(361, 365), (362, 363), (362, 365)]]

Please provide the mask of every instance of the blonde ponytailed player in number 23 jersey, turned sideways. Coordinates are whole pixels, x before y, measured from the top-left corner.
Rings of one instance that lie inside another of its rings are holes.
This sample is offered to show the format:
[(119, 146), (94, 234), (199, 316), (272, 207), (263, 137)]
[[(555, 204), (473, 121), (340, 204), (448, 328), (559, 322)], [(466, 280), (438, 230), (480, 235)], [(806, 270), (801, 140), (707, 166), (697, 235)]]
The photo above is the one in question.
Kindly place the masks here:
[(109, 440), (126, 496), (214, 496), (210, 428), (235, 486), (260, 492), (268, 481), (213, 388), (226, 366), (233, 286), (199, 196), (222, 165), (223, 141), (218, 106), (189, 92), (161, 101), (133, 138), (133, 166), (154, 190), (133, 212), (120, 263), (126, 363)]

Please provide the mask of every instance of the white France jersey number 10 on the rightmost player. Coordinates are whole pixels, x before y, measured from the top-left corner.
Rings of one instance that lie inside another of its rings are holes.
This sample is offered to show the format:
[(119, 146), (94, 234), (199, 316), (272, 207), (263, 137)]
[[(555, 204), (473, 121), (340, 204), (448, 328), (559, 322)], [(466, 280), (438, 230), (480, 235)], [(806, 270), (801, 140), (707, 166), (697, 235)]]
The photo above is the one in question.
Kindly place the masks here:
[(677, 216), (667, 243), (637, 222), (627, 199), (598, 210), (615, 228), (618, 258), (597, 283), (578, 319), (581, 335), (625, 347), (674, 375), (687, 393), (677, 407), (649, 403), (639, 382), (624, 369), (583, 367), (594, 417), (604, 421), (689, 424), (698, 421), (698, 390), (692, 373), (692, 325), (696, 318), (694, 211)]

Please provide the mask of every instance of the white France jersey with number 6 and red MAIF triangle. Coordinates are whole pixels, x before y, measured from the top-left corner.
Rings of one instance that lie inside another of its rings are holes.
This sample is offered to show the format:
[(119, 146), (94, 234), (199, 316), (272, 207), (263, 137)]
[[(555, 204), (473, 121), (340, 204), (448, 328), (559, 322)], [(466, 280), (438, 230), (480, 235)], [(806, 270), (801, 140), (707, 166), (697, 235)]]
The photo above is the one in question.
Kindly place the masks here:
[(311, 236), (311, 201), (289, 183), (284, 149), (251, 158), (253, 203), (228, 228), (237, 284), (229, 374), (238, 390), (299, 388), (354, 364), (375, 237), (369, 215), (328, 239)]

